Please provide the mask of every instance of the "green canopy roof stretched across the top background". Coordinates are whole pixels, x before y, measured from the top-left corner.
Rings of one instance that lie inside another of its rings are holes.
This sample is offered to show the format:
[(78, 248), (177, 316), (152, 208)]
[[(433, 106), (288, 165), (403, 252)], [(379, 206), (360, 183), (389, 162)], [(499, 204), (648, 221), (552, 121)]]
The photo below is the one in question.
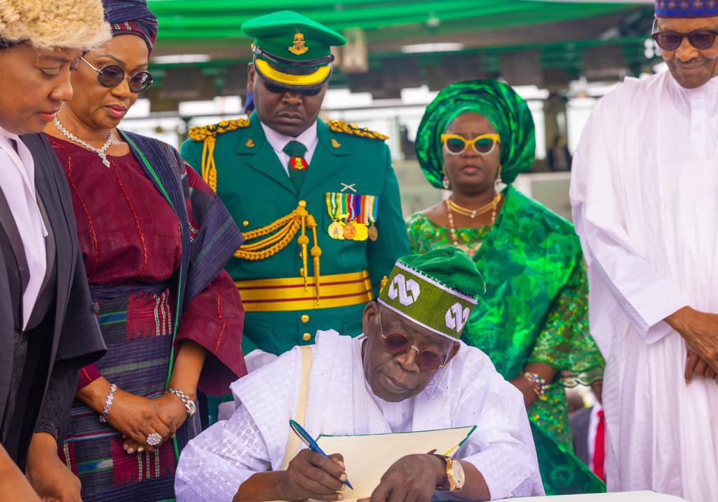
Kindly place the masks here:
[[(159, 44), (170, 40), (243, 37), (243, 22), (286, 9), (286, 0), (149, 0), (159, 19)], [(636, 2), (551, 2), (534, 0), (294, 0), (292, 9), (336, 30), (363, 28), (368, 39), (399, 37), (396, 27), (440, 32), (461, 22), (477, 32), (604, 16), (634, 8)], [(373, 33), (375, 32), (375, 33)], [(383, 33), (381, 33), (383, 32)]]

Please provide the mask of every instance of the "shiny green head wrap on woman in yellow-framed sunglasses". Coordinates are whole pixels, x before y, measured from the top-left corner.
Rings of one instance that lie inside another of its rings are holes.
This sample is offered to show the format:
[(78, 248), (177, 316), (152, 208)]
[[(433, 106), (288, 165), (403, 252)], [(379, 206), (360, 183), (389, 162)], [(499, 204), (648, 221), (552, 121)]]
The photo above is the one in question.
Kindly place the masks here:
[(442, 188), (444, 154), (441, 136), (462, 113), (480, 113), (501, 137), (501, 179), (516, 180), (531, 169), (536, 156), (533, 118), (526, 101), (498, 80), (467, 80), (447, 85), (426, 108), (416, 133), (416, 157), (429, 183)]

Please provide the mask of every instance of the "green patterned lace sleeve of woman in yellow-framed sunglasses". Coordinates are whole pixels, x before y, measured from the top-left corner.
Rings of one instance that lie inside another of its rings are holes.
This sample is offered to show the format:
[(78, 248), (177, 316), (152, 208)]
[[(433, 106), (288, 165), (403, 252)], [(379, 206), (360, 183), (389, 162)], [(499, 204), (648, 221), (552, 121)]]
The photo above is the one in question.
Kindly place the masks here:
[(564, 385), (589, 385), (603, 378), (605, 363), (588, 328), (588, 279), (583, 262), (549, 311), (526, 364), (546, 363), (562, 372)]

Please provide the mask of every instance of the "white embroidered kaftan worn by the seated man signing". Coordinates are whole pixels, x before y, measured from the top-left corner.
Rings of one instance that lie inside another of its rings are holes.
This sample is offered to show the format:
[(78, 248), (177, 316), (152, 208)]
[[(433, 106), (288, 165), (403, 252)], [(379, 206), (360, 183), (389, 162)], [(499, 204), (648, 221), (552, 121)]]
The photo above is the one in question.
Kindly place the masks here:
[[(391, 432), (365, 386), (363, 339), (317, 333), (304, 424), (313, 437)], [(230, 501), (254, 473), (279, 469), (301, 371), (299, 348), (294, 348), (232, 385), (233, 416), (202, 432), (182, 452), (174, 484), (177, 501)], [(476, 466), (491, 496), (544, 493), (521, 394), (480, 350), (462, 344), (414, 398), (408, 424), (409, 430), (476, 425), (454, 457)]]

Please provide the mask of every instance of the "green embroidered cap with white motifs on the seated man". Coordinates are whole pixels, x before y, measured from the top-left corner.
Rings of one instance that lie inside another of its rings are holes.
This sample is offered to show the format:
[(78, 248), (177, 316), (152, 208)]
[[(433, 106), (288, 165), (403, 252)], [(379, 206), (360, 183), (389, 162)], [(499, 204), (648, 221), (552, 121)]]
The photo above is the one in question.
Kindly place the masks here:
[(470, 256), (447, 246), (398, 259), (378, 302), (438, 335), (460, 338), (485, 291)]

